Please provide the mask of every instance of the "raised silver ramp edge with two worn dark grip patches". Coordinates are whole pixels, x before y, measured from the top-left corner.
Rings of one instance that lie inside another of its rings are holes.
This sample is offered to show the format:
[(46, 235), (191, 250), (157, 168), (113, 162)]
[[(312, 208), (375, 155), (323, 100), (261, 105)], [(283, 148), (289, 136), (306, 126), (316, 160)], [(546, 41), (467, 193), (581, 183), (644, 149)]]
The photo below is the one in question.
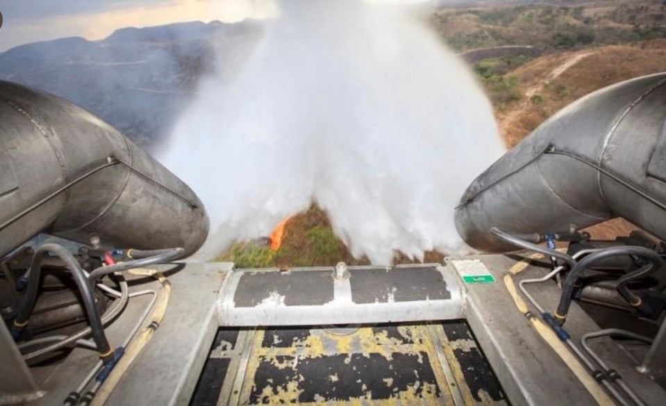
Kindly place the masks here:
[(461, 318), (463, 291), (438, 264), (235, 270), (219, 293), (222, 326), (388, 323)]

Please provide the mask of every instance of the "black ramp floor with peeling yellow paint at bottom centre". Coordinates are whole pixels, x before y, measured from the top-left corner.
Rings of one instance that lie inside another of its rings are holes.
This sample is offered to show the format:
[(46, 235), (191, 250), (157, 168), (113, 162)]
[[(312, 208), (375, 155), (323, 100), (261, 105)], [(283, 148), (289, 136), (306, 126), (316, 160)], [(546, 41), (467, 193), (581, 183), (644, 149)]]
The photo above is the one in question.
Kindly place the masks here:
[(506, 405), (464, 320), (221, 328), (190, 405)]

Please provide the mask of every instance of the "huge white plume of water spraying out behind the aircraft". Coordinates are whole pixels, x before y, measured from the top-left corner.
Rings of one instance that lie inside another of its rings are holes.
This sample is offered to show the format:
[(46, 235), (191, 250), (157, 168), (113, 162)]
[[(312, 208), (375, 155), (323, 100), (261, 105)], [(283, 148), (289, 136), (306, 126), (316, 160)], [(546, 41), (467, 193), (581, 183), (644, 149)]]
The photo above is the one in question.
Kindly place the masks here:
[(201, 197), (210, 259), (315, 202), (355, 257), (463, 247), (453, 209), (503, 152), (467, 67), (404, 10), (284, 0), (233, 81), (210, 77), (161, 160)]

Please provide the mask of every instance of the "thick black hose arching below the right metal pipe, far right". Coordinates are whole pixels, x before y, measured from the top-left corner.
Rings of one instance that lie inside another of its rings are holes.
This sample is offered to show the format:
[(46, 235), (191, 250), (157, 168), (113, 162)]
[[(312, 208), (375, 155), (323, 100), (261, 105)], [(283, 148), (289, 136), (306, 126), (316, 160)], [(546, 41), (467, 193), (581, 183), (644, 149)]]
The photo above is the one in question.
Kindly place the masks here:
[[(581, 261), (578, 261), (578, 263), (576, 263), (574, 268), (572, 268), (572, 270), (569, 272), (569, 275), (567, 275), (565, 284), (562, 287), (562, 296), (560, 297), (560, 303), (558, 304), (557, 311), (554, 314), (556, 321), (559, 324), (563, 324), (564, 320), (567, 318), (567, 313), (569, 312), (569, 306), (571, 305), (572, 301), (572, 293), (574, 292), (574, 282), (576, 282), (576, 279), (581, 277), (583, 270), (585, 270), (585, 268), (590, 268), (590, 266), (592, 266), (597, 261), (601, 261), (602, 259), (606, 259), (608, 257), (617, 257), (618, 255), (635, 255), (637, 257), (647, 259), (650, 262), (649, 264), (647, 264), (647, 269), (644, 270), (643, 268), (641, 268), (637, 271), (634, 271), (633, 273), (625, 275), (626, 277), (628, 277), (628, 279), (633, 279), (634, 277), (647, 275), (653, 269), (660, 268), (660, 266), (663, 264), (663, 259), (661, 259), (659, 254), (657, 254), (653, 250), (649, 250), (648, 248), (645, 247), (634, 247), (631, 245), (621, 246), (621, 247), (610, 247), (606, 248), (605, 250), (589, 254), (587, 257), (581, 259)], [(640, 271), (640, 275), (636, 275), (638, 271)]]

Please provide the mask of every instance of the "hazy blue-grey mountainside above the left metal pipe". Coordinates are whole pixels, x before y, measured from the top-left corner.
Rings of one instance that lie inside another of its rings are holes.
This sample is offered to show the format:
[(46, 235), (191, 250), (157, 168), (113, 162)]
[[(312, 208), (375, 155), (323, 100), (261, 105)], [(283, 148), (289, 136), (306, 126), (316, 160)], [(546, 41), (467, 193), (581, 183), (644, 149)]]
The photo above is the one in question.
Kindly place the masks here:
[(199, 77), (231, 74), (235, 64), (226, 60), (260, 32), (256, 22), (191, 22), (119, 29), (100, 41), (35, 42), (0, 54), (0, 79), (74, 101), (151, 149), (194, 97)]

